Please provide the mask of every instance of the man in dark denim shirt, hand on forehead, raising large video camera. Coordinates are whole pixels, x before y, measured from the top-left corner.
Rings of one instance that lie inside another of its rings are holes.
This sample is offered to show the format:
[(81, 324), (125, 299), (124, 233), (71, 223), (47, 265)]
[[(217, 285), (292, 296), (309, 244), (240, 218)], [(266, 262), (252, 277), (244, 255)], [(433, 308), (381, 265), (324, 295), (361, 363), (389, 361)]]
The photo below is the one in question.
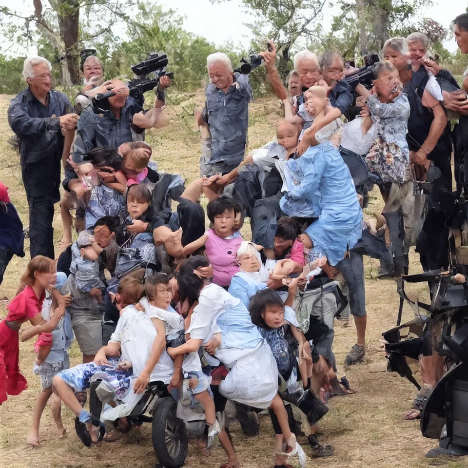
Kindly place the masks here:
[[(123, 143), (133, 140), (132, 131), (141, 134), (144, 129), (153, 128), (165, 102), (164, 90), (170, 85), (170, 78), (161, 77), (153, 108), (143, 111), (135, 99), (129, 96), (126, 83), (118, 79), (111, 80), (105, 87), (107, 91), (112, 91), (114, 96), (102, 99), (99, 109), (88, 106), (81, 113), (78, 136), (74, 143), (74, 161), (81, 162), (83, 156), (92, 148), (107, 146), (117, 150)], [(62, 184), (65, 190), (73, 190), (78, 198), (84, 193), (83, 185), (69, 166)]]

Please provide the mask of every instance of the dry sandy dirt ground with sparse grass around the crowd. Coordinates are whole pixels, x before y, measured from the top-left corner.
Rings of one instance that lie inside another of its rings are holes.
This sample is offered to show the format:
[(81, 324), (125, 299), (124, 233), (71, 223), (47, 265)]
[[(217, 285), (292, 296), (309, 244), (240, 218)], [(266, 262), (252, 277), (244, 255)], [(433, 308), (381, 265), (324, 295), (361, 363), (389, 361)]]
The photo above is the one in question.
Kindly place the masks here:
[[(26, 196), (21, 183), (18, 153), (7, 144), (11, 135), (6, 119), (9, 98), (0, 96), (0, 180), (9, 186), (10, 196), (16, 205), (23, 224), (28, 225)], [(202, 103), (202, 94), (178, 99), (164, 111), (167, 125), (148, 132), (147, 141), (153, 145), (153, 159), (159, 169), (181, 173), (188, 181), (198, 176), (199, 134), (191, 116), (196, 104)], [(280, 115), (279, 103), (273, 99), (259, 99), (251, 104), (249, 147), (258, 148), (274, 136), (275, 122)], [(382, 209), (377, 192), (366, 210), (368, 216), (376, 216)], [(54, 220), (55, 241), (61, 237), (61, 221), (57, 205)], [(247, 236), (249, 228), (246, 228)], [(0, 316), (5, 315), (7, 300), (13, 298), (18, 287), (20, 274), (29, 259), (29, 244), (25, 245), (26, 257), (14, 257), (0, 286)], [(355, 395), (332, 398), (330, 411), (319, 423), (323, 434), (320, 439), (332, 443), (335, 453), (326, 459), (309, 459), (308, 467), (329, 468), (387, 468), (428, 467), (444, 465), (450, 468), (468, 467), (468, 460), (437, 460), (424, 458), (424, 454), (436, 445), (436, 441), (425, 439), (419, 430), (418, 421), (405, 421), (403, 413), (415, 396), (415, 388), (396, 373), (370, 372), (370, 365), (385, 366), (385, 358), (379, 350), (378, 339), (382, 331), (394, 326), (398, 310), (396, 285), (391, 280), (374, 279), (378, 262), (365, 257), (366, 298), (368, 312), (368, 334), (366, 362), (347, 371)], [(411, 253), (411, 272), (419, 270), (417, 254)], [(426, 288), (419, 287), (427, 296)], [(404, 320), (412, 312), (405, 305)], [(352, 323), (344, 327), (335, 322), (334, 351), (337, 362), (343, 363), (346, 353), (355, 343)], [(153, 467), (156, 457), (151, 444), (149, 425), (143, 425), (140, 440), (131, 432), (119, 442), (101, 443), (85, 448), (75, 435), (72, 413), (63, 409), (63, 419), (68, 433), (58, 439), (51, 421), (50, 409), (42, 416), (40, 429), (41, 447), (33, 449), (26, 445), (26, 437), (32, 420), (32, 411), (40, 390), (39, 378), (32, 373), (34, 360), (33, 341), (20, 345), (20, 369), (29, 382), (28, 390), (18, 396), (9, 397), (0, 407), (0, 466), (14, 468), (29, 467)], [(80, 354), (76, 343), (72, 346), (72, 365), (78, 364)], [(372, 367), (371, 366), (371, 367)], [(420, 374), (416, 371), (416, 378)], [(234, 447), (245, 468), (273, 466), (273, 437), (268, 416), (261, 417), (260, 436), (248, 438), (242, 435), (239, 426), (233, 427)], [(304, 446), (306, 452), (310, 452)], [(189, 448), (186, 466), (190, 468), (218, 467), (224, 463), (224, 453), (215, 448), (209, 458), (198, 455), (193, 445)]]

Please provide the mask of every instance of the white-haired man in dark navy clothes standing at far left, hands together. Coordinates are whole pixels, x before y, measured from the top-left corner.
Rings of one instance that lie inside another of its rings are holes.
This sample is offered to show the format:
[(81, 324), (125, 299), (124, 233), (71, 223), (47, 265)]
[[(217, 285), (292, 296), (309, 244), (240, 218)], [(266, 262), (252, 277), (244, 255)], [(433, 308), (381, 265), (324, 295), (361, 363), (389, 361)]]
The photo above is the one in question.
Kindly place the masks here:
[[(13, 98), (8, 123), (19, 137), (21, 176), (29, 204), (31, 258), (54, 258), (54, 203), (60, 199), (60, 160), (64, 134), (71, 133), (78, 115), (71, 114), (67, 97), (52, 90), (52, 67), (43, 57), (25, 59), (27, 89)], [(68, 152), (68, 149), (65, 148)]]

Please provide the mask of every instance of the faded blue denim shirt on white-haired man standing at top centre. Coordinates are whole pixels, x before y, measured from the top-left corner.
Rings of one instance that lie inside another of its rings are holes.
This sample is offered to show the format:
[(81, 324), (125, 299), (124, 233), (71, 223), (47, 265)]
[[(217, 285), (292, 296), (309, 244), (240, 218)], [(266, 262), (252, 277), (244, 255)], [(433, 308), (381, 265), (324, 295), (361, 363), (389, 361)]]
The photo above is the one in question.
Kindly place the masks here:
[(213, 83), (205, 90), (203, 120), (211, 133), (212, 156), (208, 164), (242, 161), (249, 127), (249, 101), (253, 100), (247, 75), (234, 73), (234, 83), (225, 94)]

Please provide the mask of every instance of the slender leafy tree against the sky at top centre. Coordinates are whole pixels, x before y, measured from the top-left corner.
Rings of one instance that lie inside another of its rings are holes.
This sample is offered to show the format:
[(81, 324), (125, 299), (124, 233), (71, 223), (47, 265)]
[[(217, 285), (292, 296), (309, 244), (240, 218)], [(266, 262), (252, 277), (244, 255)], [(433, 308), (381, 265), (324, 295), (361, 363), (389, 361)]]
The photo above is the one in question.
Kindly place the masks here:
[(326, 1), (242, 0), (246, 12), (256, 18), (248, 23), (255, 36), (253, 47), (256, 51), (265, 50), (267, 40), (274, 40), (280, 58), (278, 71), (283, 78), (291, 68), (288, 62), (294, 44), (297, 39), (313, 34), (315, 21), (321, 19)]

